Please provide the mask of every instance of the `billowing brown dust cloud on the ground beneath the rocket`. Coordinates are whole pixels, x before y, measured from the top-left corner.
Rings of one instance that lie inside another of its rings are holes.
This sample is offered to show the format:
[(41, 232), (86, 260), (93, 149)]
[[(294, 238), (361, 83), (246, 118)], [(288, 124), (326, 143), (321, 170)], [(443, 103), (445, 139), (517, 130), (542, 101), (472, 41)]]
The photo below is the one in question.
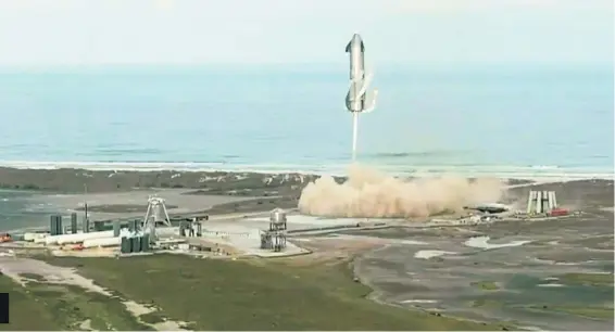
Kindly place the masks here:
[(503, 192), (499, 179), (470, 181), (441, 176), (403, 180), (354, 164), (343, 183), (328, 176), (309, 183), (301, 193), (299, 210), (323, 217), (416, 218), (497, 202)]

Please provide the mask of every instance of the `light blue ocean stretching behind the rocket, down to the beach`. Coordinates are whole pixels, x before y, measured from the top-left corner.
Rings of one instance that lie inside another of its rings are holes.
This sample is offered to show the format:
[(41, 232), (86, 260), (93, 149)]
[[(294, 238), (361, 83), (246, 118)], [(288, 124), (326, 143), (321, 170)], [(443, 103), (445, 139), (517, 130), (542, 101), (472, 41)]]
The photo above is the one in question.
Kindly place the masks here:
[[(0, 165), (343, 174), (346, 65), (0, 69)], [(613, 68), (388, 66), (359, 162), (612, 178)]]

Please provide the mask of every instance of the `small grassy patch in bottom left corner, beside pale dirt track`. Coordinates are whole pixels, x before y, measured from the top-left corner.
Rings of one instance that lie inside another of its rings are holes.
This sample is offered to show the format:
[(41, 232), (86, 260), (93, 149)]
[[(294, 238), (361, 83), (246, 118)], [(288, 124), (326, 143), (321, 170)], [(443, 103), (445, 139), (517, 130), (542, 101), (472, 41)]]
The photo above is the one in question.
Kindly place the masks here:
[(149, 329), (138, 323), (118, 299), (76, 286), (28, 282), (23, 288), (0, 276), (0, 290), (10, 294), (11, 321), (1, 324), (1, 331), (83, 330), (80, 325), (87, 320), (89, 327), (100, 331)]

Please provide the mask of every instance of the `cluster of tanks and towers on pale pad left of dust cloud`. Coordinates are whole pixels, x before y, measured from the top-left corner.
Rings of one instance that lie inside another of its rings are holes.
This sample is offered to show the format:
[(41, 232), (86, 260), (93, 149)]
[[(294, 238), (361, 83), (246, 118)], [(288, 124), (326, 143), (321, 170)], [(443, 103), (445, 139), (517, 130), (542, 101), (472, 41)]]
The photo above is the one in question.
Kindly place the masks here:
[(70, 219), (70, 225), (64, 226), (63, 216), (50, 216), (49, 231), (25, 233), (23, 240), (57, 255), (128, 257), (177, 252), (268, 257), (306, 252), (287, 243), (288, 217), (280, 208), (271, 212), (267, 222), (250, 219), (216, 222), (197, 216), (176, 218), (178, 222), (172, 224), (164, 200), (150, 196), (146, 214), (139, 219), (92, 221), (85, 217), (79, 225), (77, 213), (71, 214)]

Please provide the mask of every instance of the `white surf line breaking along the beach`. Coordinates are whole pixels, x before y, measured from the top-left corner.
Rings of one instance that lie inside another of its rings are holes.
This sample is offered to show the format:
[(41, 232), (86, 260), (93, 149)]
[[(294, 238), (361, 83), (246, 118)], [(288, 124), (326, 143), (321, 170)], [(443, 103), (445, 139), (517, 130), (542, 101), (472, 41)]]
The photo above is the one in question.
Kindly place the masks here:
[[(507, 166), (507, 165), (429, 165), (429, 166), (400, 166), (374, 165), (381, 171), (393, 176), (430, 177), (440, 175), (457, 175), (463, 177), (495, 177), (531, 180), (566, 181), (580, 179), (608, 179), (614, 178), (610, 168), (566, 168), (561, 166)], [(30, 161), (0, 161), (0, 167), (21, 169), (60, 169), (77, 168), (88, 170), (109, 171), (233, 171), (260, 174), (302, 174), (302, 175), (332, 175), (343, 176), (348, 164), (229, 164), (205, 162), (30, 162)]]

